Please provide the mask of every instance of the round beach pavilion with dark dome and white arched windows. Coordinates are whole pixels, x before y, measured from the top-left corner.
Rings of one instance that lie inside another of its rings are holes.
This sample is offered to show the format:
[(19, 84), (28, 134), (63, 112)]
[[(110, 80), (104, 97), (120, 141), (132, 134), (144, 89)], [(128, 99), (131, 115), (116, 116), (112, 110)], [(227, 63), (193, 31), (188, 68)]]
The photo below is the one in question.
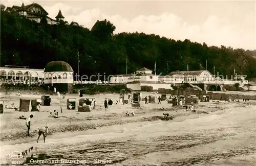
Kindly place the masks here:
[(56, 87), (57, 91), (71, 92), (74, 84), (74, 70), (64, 61), (49, 62), (45, 69), (45, 85), (51, 88)]

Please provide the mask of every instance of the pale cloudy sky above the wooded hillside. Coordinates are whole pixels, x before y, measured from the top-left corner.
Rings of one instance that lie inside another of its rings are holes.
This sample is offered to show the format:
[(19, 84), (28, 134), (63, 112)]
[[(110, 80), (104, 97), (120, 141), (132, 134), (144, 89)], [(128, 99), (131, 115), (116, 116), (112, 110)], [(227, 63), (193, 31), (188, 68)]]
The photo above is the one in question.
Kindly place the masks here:
[(54, 18), (91, 29), (110, 20), (114, 33), (143, 32), (208, 46), (256, 49), (256, 1), (3, 1), (11, 7), (37, 3)]

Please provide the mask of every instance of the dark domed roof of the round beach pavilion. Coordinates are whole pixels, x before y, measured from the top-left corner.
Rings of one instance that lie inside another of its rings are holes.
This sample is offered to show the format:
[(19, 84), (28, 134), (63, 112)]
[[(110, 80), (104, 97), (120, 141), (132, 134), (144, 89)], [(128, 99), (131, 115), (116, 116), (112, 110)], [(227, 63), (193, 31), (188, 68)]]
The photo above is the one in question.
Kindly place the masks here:
[(44, 72), (74, 72), (74, 70), (67, 62), (52, 61), (47, 63)]

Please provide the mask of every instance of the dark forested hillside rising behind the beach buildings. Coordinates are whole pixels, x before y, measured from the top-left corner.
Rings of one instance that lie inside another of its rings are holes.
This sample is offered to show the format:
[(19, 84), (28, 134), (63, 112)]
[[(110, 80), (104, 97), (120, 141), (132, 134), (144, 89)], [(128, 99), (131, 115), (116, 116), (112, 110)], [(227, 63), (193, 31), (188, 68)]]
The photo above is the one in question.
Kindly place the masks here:
[[(79, 22), (78, 22), (79, 23)], [(91, 27), (88, 27), (91, 29)], [(42, 19), (36, 23), (18, 15), (1, 12), (1, 66), (23, 65), (44, 68), (50, 61), (68, 62), (77, 72), (79, 51), (80, 75), (95, 73), (124, 74), (126, 58), (128, 73), (140, 67), (167, 74), (176, 70), (200, 70), (232, 75), (234, 68), (247, 78), (256, 77), (255, 52), (230, 47), (207, 46), (185, 41), (175, 41), (158, 35), (120, 33), (112, 35), (115, 26), (110, 21), (100, 21), (90, 31), (71, 25), (51, 26)]]

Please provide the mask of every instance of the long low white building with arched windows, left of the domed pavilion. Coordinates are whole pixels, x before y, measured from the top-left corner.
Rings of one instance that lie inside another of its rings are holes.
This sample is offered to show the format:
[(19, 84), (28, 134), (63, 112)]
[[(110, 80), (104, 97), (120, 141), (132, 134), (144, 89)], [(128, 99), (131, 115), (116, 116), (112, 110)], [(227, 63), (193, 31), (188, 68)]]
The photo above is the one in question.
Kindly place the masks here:
[(7, 80), (43, 80), (44, 69), (0, 67), (0, 77)]

